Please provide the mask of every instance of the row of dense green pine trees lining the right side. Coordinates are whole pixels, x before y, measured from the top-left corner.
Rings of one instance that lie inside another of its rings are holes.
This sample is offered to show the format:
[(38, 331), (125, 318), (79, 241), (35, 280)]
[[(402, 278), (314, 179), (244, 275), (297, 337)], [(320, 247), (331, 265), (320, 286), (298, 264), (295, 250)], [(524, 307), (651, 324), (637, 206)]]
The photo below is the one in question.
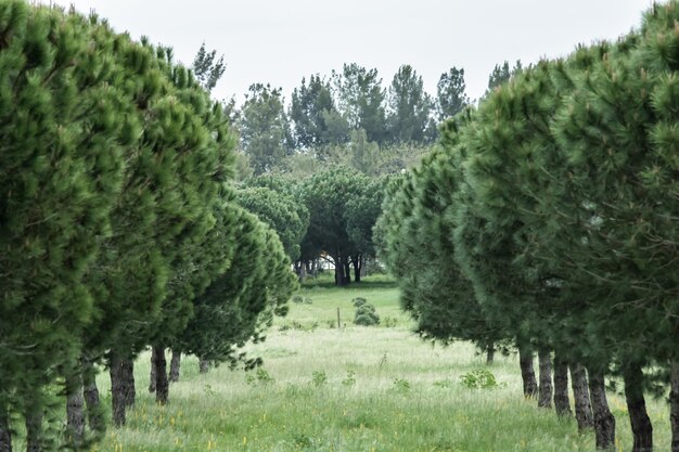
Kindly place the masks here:
[(608, 375), (633, 451), (653, 447), (644, 389), (670, 387), (679, 451), (677, 22), (679, 2), (654, 5), (614, 43), (517, 67), (443, 126), (376, 229), (425, 336), (514, 341), (526, 396), (550, 406), (553, 391), (562, 415), (569, 367), (599, 449), (615, 443)]

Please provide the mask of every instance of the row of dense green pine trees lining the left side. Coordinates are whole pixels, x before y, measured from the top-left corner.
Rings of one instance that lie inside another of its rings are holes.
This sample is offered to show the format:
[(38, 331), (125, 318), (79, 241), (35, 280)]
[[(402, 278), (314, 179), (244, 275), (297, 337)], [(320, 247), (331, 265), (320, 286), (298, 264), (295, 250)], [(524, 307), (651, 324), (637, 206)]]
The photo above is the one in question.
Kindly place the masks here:
[[(227, 112), (169, 49), (3, 0), (0, 67), (0, 451), (20, 416), (29, 451), (85, 448), (85, 403), (89, 431), (104, 429), (97, 364), (120, 425), (136, 353), (153, 347), (164, 403), (165, 347), (240, 358), (295, 280), (276, 232), (235, 202)], [(228, 322), (187, 344), (205, 312)]]

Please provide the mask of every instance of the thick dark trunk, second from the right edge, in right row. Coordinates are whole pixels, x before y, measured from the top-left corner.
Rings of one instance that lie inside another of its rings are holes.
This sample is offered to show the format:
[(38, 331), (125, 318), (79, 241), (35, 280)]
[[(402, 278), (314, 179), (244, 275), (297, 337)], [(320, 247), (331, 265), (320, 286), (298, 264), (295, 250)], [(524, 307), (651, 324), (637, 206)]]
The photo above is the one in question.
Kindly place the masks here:
[(623, 372), (627, 411), (635, 436), (632, 452), (652, 452), (653, 425), (646, 412), (646, 402), (643, 397), (643, 372), (641, 365), (631, 363), (626, 365)]

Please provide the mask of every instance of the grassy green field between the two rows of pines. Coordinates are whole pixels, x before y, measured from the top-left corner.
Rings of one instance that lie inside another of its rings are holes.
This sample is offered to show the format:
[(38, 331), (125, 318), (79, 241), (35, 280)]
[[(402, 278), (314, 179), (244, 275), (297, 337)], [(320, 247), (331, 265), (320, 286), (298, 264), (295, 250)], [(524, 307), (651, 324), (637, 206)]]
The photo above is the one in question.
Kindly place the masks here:
[[(258, 372), (226, 366), (207, 375), (185, 358), (170, 403), (156, 406), (145, 387), (149, 356), (136, 366), (138, 403), (128, 425), (111, 428), (94, 450), (128, 451), (593, 451), (593, 434), (522, 397), (515, 357), (488, 367), (499, 385), (469, 389), (460, 376), (486, 369), (469, 344), (423, 343), (384, 280), (338, 289), (311, 283), (264, 344)], [(377, 327), (354, 326), (354, 297), (373, 304)], [(342, 327), (336, 327), (340, 308)], [(386, 322), (385, 322), (386, 320)], [(344, 324), (346, 323), (346, 326)], [(392, 326), (384, 326), (388, 323)], [(332, 326), (332, 327), (331, 327)], [(108, 393), (106, 375), (100, 389)], [(624, 398), (611, 395), (618, 451), (631, 449)], [(669, 450), (668, 410), (649, 400), (657, 450)]]

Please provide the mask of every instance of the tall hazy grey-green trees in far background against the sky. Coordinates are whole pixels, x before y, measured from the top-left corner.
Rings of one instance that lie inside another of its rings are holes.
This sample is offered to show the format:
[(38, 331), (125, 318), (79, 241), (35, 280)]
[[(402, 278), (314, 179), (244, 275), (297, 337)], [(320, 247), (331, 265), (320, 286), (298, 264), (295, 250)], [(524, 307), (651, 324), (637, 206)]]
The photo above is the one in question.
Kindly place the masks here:
[[(504, 75), (497, 70), (491, 80)], [(260, 175), (284, 169), (286, 156), (326, 160), (361, 140), (386, 153), (401, 145), (430, 146), (436, 139), (436, 122), (471, 103), (464, 90), (464, 69), (456, 67), (440, 76), (432, 96), (408, 64), (398, 68), (386, 88), (377, 69), (344, 64), (329, 77), (303, 78), (289, 105), (280, 89), (253, 85), (236, 127), (242, 151), (255, 175)]]

